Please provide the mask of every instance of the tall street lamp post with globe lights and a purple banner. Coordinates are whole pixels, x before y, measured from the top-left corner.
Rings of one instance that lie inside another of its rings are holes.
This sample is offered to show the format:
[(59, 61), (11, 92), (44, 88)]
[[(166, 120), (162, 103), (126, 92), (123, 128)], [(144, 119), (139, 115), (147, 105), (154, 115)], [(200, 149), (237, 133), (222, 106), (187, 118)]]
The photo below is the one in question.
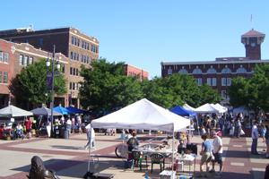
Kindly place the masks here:
[[(52, 54), (52, 59), (51, 59), (51, 72), (47, 72), (47, 86), (48, 89), (51, 90), (51, 102), (50, 102), (50, 109), (51, 109), (51, 114), (50, 114), (50, 126), (51, 126), (51, 130), (50, 130), (50, 137), (53, 137), (53, 133), (54, 133), (54, 127), (53, 127), (53, 107), (54, 107), (54, 77), (55, 77), (55, 50), (56, 47), (55, 45), (53, 46), (53, 54)], [(48, 56), (48, 60), (46, 62), (47, 67), (50, 66), (50, 59)], [(60, 69), (60, 64), (58, 63), (58, 61), (56, 61), (56, 69), (59, 70)]]

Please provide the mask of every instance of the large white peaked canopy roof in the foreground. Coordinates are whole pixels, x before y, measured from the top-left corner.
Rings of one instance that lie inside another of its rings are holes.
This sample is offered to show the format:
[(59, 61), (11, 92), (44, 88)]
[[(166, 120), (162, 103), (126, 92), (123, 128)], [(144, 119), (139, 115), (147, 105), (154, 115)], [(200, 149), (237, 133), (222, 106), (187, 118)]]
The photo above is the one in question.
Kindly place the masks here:
[(93, 128), (186, 131), (190, 121), (143, 98), (92, 121)]

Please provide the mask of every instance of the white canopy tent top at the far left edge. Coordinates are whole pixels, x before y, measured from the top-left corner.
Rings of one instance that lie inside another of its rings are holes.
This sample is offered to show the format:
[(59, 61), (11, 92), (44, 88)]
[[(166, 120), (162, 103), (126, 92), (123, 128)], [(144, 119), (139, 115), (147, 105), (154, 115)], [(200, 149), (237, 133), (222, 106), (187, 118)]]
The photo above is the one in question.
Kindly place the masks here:
[(4, 117), (19, 117), (29, 115), (32, 115), (32, 113), (29, 111), (25, 111), (19, 107), (14, 107), (13, 105), (0, 109), (0, 116)]

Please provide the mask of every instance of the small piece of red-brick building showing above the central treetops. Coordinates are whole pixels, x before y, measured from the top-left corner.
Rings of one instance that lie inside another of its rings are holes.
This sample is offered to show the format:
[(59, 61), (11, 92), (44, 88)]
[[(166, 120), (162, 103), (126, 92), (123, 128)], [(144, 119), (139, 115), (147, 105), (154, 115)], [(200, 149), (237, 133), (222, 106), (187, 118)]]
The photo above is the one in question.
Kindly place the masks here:
[(124, 65), (124, 72), (126, 76), (135, 76), (139, 81), (148, 80), (149, 72), (143, 71), (143, 69), (139, 69), (130, 64)]

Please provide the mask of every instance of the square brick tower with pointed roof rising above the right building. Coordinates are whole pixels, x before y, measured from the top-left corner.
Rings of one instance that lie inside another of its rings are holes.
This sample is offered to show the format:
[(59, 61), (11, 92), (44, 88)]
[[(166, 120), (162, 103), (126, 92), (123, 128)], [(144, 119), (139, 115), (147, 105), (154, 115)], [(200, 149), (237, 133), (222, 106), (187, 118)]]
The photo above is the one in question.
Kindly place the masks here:
[(246, 57), (249, 60), (261, 60), (261, 44), (264, 39), (265, 34), (253, 29), (241, 36), (241, 42), (246, 47)]

